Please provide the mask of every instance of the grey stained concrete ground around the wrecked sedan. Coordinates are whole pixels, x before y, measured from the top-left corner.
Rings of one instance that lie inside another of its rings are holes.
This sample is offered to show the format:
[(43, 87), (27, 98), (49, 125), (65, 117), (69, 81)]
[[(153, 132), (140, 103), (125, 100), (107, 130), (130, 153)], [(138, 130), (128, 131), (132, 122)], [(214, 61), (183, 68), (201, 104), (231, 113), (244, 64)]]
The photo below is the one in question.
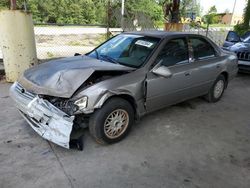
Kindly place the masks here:
[(194, 99), (142, 119), (124, 141), (83, 152), (40, 138), (0, 83), (0, 187), (250, 187), (250, 76), (222, 101)]

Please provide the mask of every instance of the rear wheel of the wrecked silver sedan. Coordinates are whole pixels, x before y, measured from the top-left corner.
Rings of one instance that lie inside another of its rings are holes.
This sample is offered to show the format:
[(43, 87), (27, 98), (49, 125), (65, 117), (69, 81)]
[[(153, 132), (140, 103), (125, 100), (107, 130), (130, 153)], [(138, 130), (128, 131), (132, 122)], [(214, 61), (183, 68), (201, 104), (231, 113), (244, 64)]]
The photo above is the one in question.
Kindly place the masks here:
[(225, 77), (223, 75), (218, 76), (208, 94), (205, 96), (206, 100), (211, 103), (218, 102), (223, 96), (226, 86), (227, 82)]

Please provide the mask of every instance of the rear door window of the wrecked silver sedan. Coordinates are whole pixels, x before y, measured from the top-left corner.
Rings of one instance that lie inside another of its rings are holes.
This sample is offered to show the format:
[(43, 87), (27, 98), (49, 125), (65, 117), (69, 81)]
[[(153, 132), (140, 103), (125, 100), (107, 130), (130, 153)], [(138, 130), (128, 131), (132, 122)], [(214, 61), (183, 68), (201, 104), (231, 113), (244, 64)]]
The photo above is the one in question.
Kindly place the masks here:
[(195, 60), (215, 57), (215, 50), (213, 46), (205, 39), (190, 38), (190, 42), (193, 48)]

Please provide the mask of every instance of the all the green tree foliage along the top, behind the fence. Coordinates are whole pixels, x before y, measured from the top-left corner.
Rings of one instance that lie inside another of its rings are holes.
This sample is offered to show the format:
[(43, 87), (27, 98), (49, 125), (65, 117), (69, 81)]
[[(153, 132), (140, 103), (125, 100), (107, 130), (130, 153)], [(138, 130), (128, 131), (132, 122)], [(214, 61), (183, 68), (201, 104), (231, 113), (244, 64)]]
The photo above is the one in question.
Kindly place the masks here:
[[(105, 24), (107, 20), (108, 0), (26, 0), (28, 11), (33, 14), (35, 23), (56, 24)], [(23, 9), (24, 0), (17, 0), (17, 8)], [(121, 0), (110, 0), (111, 10), (120, 9)], [(164, 22), (162, 6), (172, 0), (125, 0), (129, 19), (137, 13), (144, 13), (156, 25)], [(193, 0), (181, 0), (181, 16), (186, 16), (187, 9), (192, 7), (199, 16), (200, 7)], [(0, 9), (9, 8), (9, 0), (0, 0)], [(186, 11), (186, 12), (185, 12)], [(120, 21), (118, 21), (118, 26)], [(114, 24), (113, 24), (114, 25)], [(116, 24), (117, 25), (117, 24)]]

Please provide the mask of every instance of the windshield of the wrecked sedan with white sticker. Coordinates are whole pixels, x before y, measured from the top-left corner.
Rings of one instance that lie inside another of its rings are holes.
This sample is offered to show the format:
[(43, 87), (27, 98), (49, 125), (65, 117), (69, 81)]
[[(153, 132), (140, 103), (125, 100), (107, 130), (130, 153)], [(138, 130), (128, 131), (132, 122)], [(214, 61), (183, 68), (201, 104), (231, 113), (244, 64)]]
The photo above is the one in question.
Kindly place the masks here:
[(159, 41), (160, 39), (153, 37), (121, 34), (105, 42), (88, 56), (138, 68), (143, 65)]

